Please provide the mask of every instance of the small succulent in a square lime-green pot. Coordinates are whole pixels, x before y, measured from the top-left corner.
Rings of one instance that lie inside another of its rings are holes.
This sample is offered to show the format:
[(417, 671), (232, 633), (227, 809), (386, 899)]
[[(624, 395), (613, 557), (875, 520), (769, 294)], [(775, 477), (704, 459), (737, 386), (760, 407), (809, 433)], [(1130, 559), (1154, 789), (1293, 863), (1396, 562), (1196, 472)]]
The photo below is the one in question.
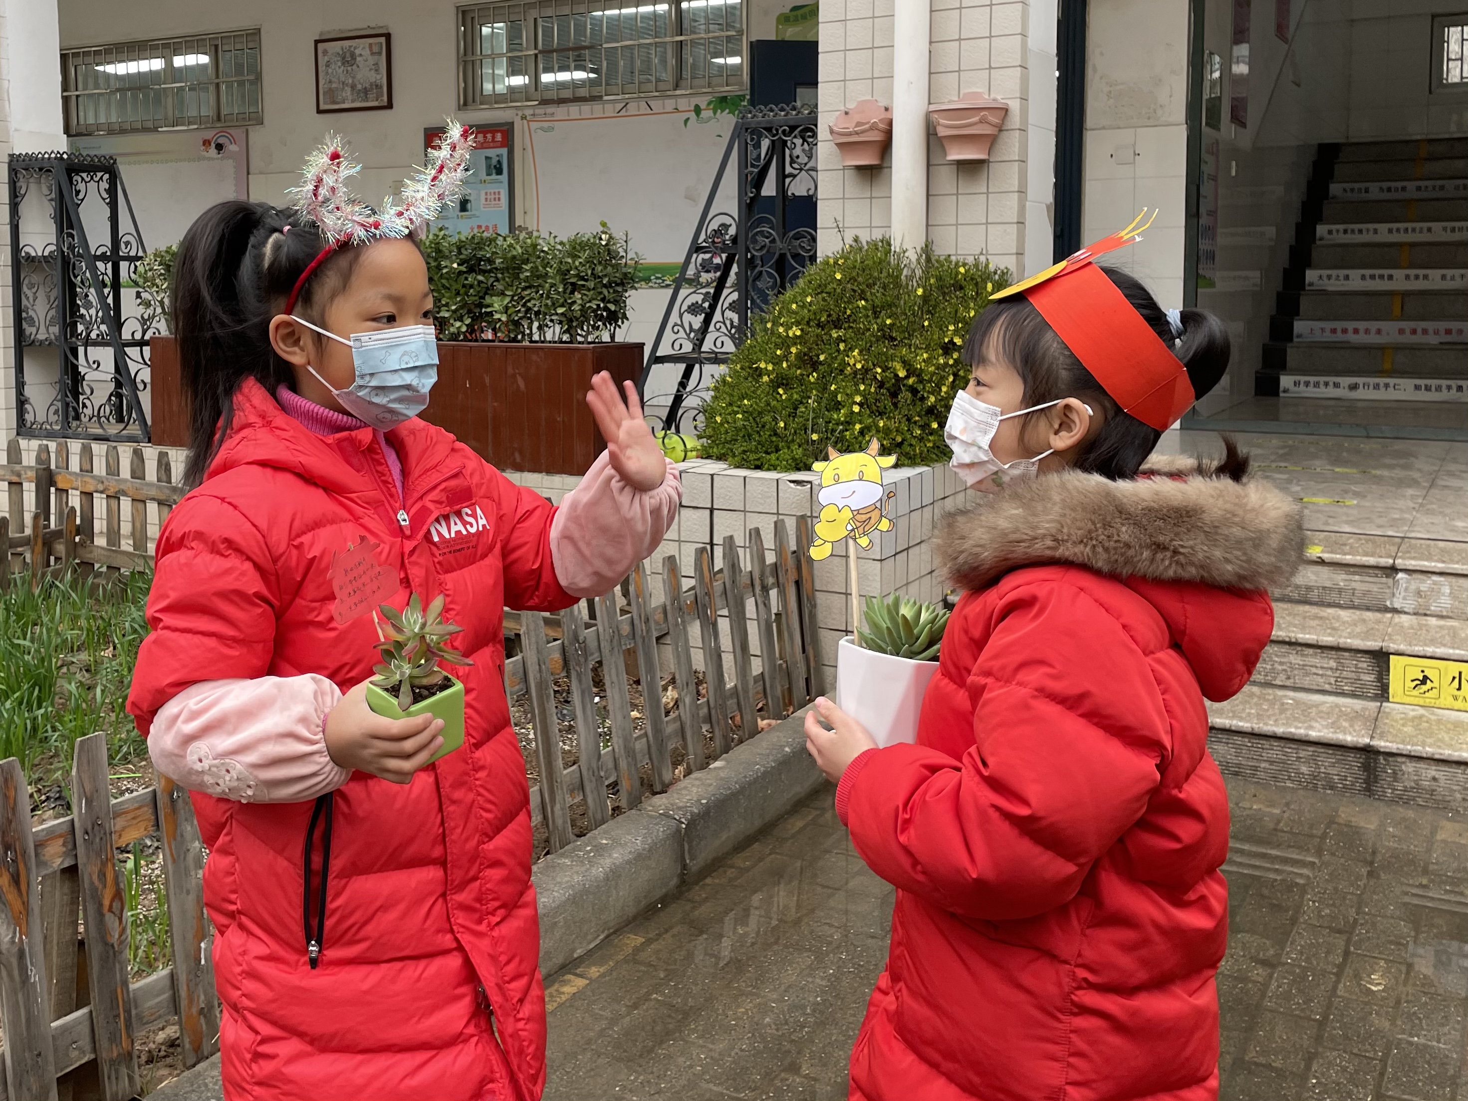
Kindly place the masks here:
[(445, 646), (445, 639), (462, 631), (443, 622), (443, 597), (423, 608), (414, 593), (401, 612), (388, 605), (379, 608), (386, 628), (379, 625), (382, 661), (373, 666), (377, 680), (367, 684), (367, 706), (389, 719), (433, 715), (443, 719), (443, 747), (430, 760), (452, 753), (464, 744), (464, 684), (439, 668), (439, 662), (473, 665), (458, 650)]

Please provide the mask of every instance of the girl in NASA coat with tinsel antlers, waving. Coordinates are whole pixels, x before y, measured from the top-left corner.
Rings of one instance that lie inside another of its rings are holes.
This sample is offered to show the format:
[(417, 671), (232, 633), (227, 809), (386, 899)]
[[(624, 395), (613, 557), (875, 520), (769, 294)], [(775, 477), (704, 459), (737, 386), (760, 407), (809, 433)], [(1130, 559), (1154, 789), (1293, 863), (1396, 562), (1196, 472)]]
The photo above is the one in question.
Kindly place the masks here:
[[(558, 508), (417, 418), (437, 377), (415, 244), (462, 188), (454, 122), (382, 213), (329, 141), (294, 210), (222, 203), (184, 238), (173, 332), (188, 479), (157, 546), (128, 709), (194, 793), (225, 1095), (530, 1101), (545, 1001), (504, 605), (606, 593), (681, 489), (602, 374), (608, 440)], [(473, 662), (464, 744), (366, 702), (374, 611), (442, 597)], [(320, 825), (319, 825), (320, 822)], [(304, 926), (304, 928), (302, 928)]]

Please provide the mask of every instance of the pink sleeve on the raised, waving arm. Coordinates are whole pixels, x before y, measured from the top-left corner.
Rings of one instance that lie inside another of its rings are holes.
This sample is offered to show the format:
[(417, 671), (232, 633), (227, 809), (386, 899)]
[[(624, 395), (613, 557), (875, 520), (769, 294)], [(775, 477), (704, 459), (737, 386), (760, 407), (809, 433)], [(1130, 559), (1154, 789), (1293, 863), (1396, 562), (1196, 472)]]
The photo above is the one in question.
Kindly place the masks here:
[(550, 521), (550, 559), (562, 589), (573, 596), (609, 593), (658, 549), (683, 501), (678, 468), (665, 462), (662, 484), (640, 493), (612, 470), (603, 451), (581, 484), (561, 499)]

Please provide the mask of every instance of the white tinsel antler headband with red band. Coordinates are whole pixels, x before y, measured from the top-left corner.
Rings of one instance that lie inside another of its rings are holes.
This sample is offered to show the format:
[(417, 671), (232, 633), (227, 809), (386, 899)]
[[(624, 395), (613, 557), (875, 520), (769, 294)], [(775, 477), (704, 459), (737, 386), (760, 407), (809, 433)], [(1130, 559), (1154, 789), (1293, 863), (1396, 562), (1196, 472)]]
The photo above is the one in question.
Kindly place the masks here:
[(295, 310), (295, 299), (305, 280), (338, 248), (410, 236), (464, 194), (474, 134), (454, 119), (446, 119), (446, 123), (439, 147), (429, 157), (429, 166), (418, 169), (402, 185), (402, 197), (396, 204), (389, 195), (382, 204), (382, 213), (346, 191), (346, 179), (355, 176), (361, 166), (348, 159), (346, 144), (341, 138), (326, 135), (326, 144), (305, 161), (301, 186), (289, 189), (289, 194), (299, 195), (295, 208), (321, 230), (326, 248), (317, 252), (295, 280), (285, 301), (285, 313)]

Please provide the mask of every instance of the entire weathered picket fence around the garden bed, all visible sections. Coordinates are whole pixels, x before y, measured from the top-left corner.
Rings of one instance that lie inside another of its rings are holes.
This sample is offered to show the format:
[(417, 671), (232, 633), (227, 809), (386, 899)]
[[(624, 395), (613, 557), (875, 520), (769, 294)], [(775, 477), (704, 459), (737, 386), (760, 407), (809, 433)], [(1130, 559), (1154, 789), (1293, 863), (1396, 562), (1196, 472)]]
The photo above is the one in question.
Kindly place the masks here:
[[(122, 479), (117, 448), (106, 448), (100, 476), (88, 445), (81, 446), (75, 471), (65, 448), (57, 445), (56, 465), (44, 446), (34, 464), (23, 465), (18, 442), (10, 442), (10, 461), (3, 467), (10, 509), (0, 517), (10, 562), (0, 583), (28, 574), (38, 584), (62, 570), (153, 564), (148, 506), (161, 527), (182, 496), (166, 454), (159, 454), (157, 480), (147, 482), (141, 449), (132, 452), (132, 477)], [(29, 534), (10, 536), (23, 530), (26, 483), (35, 486)], [(120, 545), (123, 502), (131, 509), (132, 548)], [(51, 517), (62, 523), (53, 527)], [(98, 520), (103, 543), (95, 542)], [(781, 520), (772, 561), (759, 528), (749, 533), (747, 568), (733, 536), (724, 540), (719, 570), (711, 548), (699, 548), (687, 589), (677, 559), (666, 558), (661, 603), (653, 603), (650, 580), (639, 565), (622, 584), (625, 611), (614, 592), (590, 602), (592, 618), (580, 605), (559, 615), (505, 612), (506, 642), (517, 640), (520, 650), (506, 662), (505, 688), (512, 702), (526, 697), (530, 705), (540, 777), (530, 791), (531, 818), (545, 828), (550, 851), (574, 840), (574, 802), (584, 804), (587, 826), (596, 829), (618, 807), (642, 802), (644, 777), (655, 793), (674, 784), (675, 746), (688, 775), (753, 737), (760, 719), (787, 716), (825, 691), (813, 571), (797, 549), (809, 542), (807, 518), (797, 521), (794, 546)], [(702, 699), (696, 652), (706, 680)], [(602, 665), (611, 734), (606, 750), (596, 664)], [(678, 705), (666, 716), (664, 666), (671, 666), (678, 691)], [(555, 708), (561, 677), (570, 684), (575, 715), (578, 760), (570, 768), (562, 765)], [(633, 677), (644, 693), (640, 733), (628, 694)], [(107, 780), (104, 737), (81, 738), (72, 772), (75, 815), (32, 828), (21, 765), (0, 762), (0, 1101), (132, 1098), (141, 1088), (137, 1036), (173, 1020), (185, 1066), (217, 1051), (204, 851), (188, 793), (164, 778), (157, 788), (110, 800)], [(154, 834), (161, 841), (173, 963), (131, 982), (117, 849)]]

